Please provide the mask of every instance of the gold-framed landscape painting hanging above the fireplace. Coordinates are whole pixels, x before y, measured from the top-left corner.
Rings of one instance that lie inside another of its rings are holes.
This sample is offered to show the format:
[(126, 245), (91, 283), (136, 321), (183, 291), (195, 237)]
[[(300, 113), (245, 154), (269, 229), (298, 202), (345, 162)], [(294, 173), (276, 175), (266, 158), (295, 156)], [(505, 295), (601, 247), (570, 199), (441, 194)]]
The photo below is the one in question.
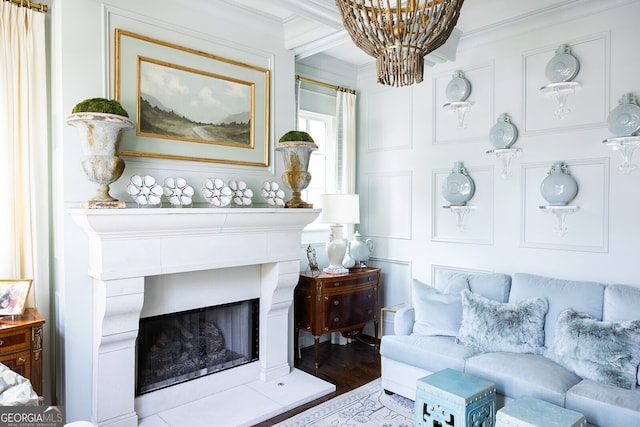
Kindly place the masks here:
[(269, 165), (269, 69), (117, 28), (114, 80), (121, 155)]

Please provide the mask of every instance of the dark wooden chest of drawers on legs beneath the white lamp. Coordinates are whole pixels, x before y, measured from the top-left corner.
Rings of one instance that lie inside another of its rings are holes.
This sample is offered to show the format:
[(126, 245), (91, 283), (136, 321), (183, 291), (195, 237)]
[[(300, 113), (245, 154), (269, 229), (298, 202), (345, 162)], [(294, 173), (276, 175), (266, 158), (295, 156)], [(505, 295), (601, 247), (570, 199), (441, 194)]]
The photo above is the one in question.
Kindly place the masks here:
[[(342, 275), (305, 272), (300, 274), (294, 294), (295, 348), (305, 330), (314, 338), (314, 360), (318, 367), (320, 336), (346, 332), (374, 323), (378, 342), (380, 269), (353, 268)], [(296, 350), (297, 351), (297, 350)]]

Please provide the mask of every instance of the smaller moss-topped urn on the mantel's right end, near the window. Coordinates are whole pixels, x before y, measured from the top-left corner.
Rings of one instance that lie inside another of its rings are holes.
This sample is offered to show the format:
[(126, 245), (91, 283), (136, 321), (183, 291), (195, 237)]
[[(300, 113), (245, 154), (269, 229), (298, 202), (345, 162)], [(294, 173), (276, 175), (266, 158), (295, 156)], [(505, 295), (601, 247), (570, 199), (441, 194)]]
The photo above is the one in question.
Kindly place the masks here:
[(311, 174), (309, 159), (311, 152), (318, 146), (307, 132), (292, 130), (280, 137), (276, 145), (276, 151), (280, 151), (284, 160), (285, 171), (282, 179), (293, 190), (291, 200), (285, 203), (287, 208), (312, 208), (313, 204), (307, 203), (300, 197), (300, 192), (309, 186)]

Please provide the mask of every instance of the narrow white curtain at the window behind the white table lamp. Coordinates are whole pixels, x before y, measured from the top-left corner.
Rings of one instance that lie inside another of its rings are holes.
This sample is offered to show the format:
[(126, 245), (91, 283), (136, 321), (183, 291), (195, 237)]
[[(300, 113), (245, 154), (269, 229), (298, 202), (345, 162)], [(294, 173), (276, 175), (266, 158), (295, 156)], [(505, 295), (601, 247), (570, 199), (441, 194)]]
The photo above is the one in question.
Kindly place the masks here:
[(356, 192), (356, 94), (338, 90), (336, 96), (336, 187)]

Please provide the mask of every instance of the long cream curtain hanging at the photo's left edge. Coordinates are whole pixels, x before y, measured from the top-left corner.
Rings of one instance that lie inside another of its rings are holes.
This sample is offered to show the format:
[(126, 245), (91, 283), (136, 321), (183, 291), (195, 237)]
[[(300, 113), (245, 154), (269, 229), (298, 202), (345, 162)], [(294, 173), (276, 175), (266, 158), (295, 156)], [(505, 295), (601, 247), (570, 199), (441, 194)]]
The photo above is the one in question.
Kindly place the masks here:
[[(48, 289), (45, 14), (0, 2), (0, 278)], [(45, 302), (46, 303), (46, 302)]]

